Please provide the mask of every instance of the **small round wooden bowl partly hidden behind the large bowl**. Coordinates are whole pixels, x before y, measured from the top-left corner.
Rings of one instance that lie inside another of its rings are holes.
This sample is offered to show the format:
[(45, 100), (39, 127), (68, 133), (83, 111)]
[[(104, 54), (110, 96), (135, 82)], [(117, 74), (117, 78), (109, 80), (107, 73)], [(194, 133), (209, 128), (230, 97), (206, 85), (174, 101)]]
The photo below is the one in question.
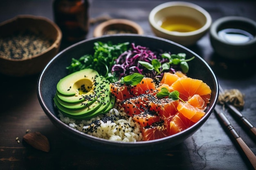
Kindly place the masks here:
[(111, 19), (99, 24), (93, 32), (94, 37), (107, 34), (134, 33), (143, 34), (144, 31), (136, 22), (125, 19)]

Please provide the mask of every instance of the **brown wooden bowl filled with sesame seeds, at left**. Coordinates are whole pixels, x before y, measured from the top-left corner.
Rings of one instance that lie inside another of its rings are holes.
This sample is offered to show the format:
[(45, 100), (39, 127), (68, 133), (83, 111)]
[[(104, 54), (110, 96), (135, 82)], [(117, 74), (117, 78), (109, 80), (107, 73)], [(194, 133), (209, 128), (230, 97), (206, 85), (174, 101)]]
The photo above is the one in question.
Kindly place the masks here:
[[(13, 44), (18, 38), (25, 44), (25, 36), (28, 42), (25, 47), (20, 48), (20, 44)], [(17, 15), (0, 23), (0, 73), (15, 77), (39, 73), (58, 53), (61, 39), (62, 32), (59, 27), (41, 16)], [(7, 41), (11, 44), (7, 44)], [(39, 44), (34, 45), (34, 49), (31, 49), (32, 41)]]

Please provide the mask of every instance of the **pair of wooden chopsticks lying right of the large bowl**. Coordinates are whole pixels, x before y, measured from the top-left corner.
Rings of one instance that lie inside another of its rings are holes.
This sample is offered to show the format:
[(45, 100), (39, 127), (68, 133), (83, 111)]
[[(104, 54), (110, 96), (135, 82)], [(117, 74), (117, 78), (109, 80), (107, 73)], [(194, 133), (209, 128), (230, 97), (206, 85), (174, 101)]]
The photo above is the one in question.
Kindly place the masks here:
[[(220, 92), (223, 93), (223, 89), (221, 87), (220, 87)], [(229, 108), (231, 113), (236, 115), (239, 118), (239, 121), (241, 121), (245, 125), (245, 127), (249, 129), (250, 132), (252, 132), (251, 134), (254, 137), (256, 137), (256, 128), (243, 116), (243, 114), (238, 109), (236, 109), (236, 107), (234, 107), (233, 105), (227, 104), (227, 103), (225, 103), (225, 105), (227, 106), (227, 108)], [(252, 150), (247, 146), (247, 144), (245, 144), (243, 139), (238, 135), (234, 127), (231, 125), (230, 121), (227, 119), (225, 114), (218, 108), (218, 106), (216, 106), (214, 110), (216, 115), (220, 119), (220, 122), (225, 126), (225, 128), (227, 128), (227, 132), (229, 132), (231, 136), (234, 137), (236, 143), (243, 150), (246, 157), (249, 159), (250, 163), (256, 170), (256, 156), (254, 155)]]

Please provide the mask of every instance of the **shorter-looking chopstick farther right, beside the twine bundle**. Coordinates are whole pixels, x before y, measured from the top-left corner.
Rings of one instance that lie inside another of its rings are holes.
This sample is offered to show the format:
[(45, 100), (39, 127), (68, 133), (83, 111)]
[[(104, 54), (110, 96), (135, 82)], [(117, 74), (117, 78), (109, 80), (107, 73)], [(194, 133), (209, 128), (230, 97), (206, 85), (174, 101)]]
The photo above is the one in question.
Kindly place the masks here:
[[(224, 92), (220, 85), (219, 85), (219, 89), (220, 89), (220, 93)], [(249, 122), (248, 119), (246, 119), (243, 116), (243, 114), (235, 106), (228, 104), (227, 102), (225, 102), (225, 105), (227, 106), (227, 108), (229, 108), (231, 113), (236, 117), (238, 117), (238, 120), (243, 125), (245, 125), (245, 127), (251, 132), (252, 136), (254, 137), (254, 140), (256, 141), (256, 128)]]

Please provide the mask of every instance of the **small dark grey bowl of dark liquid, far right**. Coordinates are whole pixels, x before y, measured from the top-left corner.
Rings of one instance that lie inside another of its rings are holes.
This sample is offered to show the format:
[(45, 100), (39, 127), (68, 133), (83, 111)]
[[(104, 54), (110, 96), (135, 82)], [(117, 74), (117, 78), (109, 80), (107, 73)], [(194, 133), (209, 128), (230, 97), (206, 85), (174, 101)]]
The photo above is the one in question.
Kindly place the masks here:
[(256, 22), (239, 16), (219, 18), (210, 28), (210, 40), (214, 51), (227, 59), (246, 60), (255, 57)]

